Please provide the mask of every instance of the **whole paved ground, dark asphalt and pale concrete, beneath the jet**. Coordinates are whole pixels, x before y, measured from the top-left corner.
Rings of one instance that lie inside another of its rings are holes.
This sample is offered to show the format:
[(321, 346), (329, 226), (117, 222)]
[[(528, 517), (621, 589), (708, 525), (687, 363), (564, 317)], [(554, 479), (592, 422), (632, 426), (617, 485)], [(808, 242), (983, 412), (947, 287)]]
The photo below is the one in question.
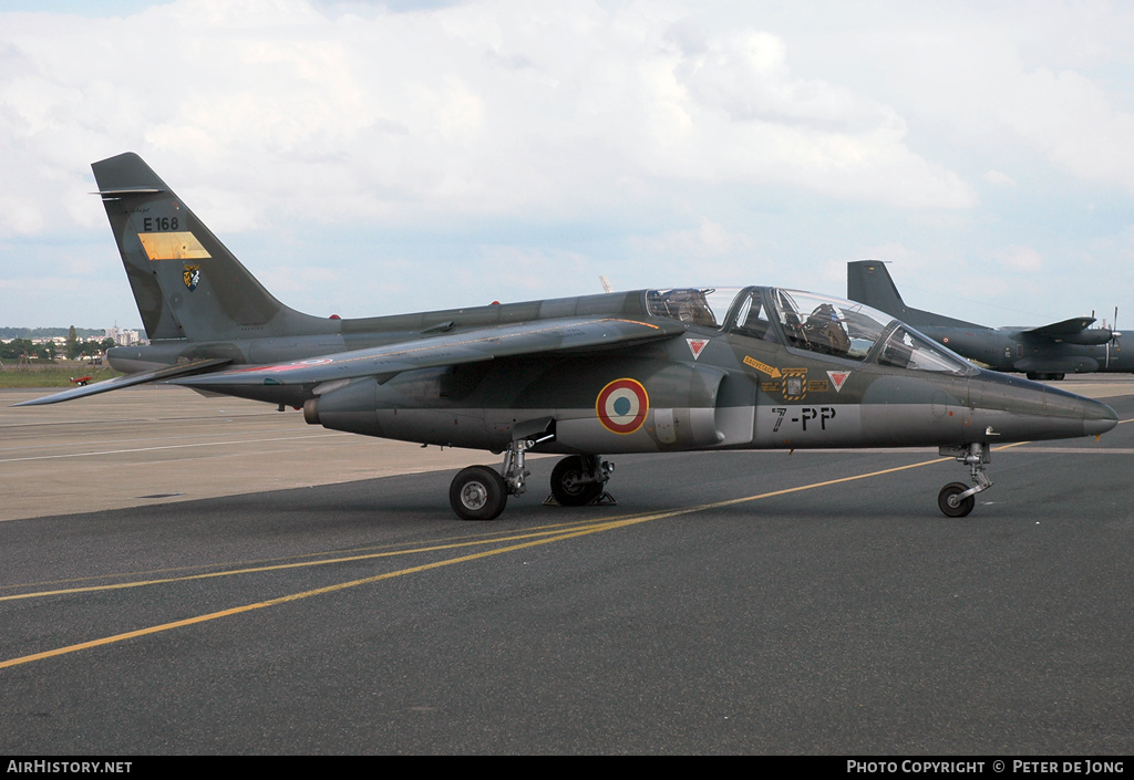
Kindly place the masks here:
[(293, 453), (328, 432), (185, 390), (6, 406), (5, 502), (54, 515), (0, 523), (0, 753), (1129, 755), (1134, 384), (1068, 385), (1123, 422), (993, 449), (960, 519), (925, 450), (618, 456), (574, 510), (536, 459), (475, 524), (445, 486), (485, 453)]

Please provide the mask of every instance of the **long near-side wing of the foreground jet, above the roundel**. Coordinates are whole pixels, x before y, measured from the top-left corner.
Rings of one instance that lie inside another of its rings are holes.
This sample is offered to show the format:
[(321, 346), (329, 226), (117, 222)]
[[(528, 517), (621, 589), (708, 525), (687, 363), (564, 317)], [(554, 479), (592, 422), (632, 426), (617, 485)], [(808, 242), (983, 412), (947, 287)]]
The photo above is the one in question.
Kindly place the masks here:
[(206, 376), (179, 379), (174, 383), (225, 392), (225, 388), (319, 384), (357, 376), (378, 376), (379, 381), (386, 382), (403, 371), (523, 355), (609, 349), (660, 341), (684, 332), (685, 327), (676, 320), (658, 322), (620, 317), (538, 320), (277, 365), (230, 368)]

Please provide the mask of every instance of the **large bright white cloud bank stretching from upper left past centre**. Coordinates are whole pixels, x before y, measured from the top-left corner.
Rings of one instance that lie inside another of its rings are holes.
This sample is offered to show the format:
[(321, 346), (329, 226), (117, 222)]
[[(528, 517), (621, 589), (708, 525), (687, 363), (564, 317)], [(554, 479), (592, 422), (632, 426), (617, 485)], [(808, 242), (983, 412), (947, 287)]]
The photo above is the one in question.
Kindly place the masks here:
[[(659, 178), (975, 202), (908, 149), (892, 109), (794, 76), (775, 34), (710, 31), (694, 51), (650, 10), (498, 0), (336, 16), (302, 0), (177, 0), (126, 18), (9, 15), (0, 164), (31, 153), (66, 181), (134, 149), (191, 186), (273, 187), (243, 227), (269, 212), (596, 213)], [(37, 217), (19, 222), (35, 230), (60, 189), (23, 172)]]

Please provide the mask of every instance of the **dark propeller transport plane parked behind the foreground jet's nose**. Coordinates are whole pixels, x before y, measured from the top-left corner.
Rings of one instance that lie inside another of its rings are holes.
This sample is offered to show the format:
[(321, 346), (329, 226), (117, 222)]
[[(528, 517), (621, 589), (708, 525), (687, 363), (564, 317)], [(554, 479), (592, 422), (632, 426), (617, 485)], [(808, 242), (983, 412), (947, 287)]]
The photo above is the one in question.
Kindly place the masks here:
[(1039, 328), (987, 328), (906, 306), (886, 265), (877, 260), (847, 263), (847, 297), (907, 322), (930, 338), (997, 371), (1032, 380), (1065, 374), (1134, 372), (1134, 350), (1123, 353), (1122, 333), (1090, 328), (1094, 317), (1073, 317)]

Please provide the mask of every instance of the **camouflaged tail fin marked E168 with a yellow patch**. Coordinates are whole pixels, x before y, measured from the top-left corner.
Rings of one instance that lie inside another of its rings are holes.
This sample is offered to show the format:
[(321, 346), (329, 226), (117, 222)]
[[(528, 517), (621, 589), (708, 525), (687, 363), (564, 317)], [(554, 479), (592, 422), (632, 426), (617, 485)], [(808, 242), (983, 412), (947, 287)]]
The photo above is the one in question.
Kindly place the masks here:
[(91, 168), (151, 340), (284, 336), (325, 323), (277, 300), (137, 154)]

